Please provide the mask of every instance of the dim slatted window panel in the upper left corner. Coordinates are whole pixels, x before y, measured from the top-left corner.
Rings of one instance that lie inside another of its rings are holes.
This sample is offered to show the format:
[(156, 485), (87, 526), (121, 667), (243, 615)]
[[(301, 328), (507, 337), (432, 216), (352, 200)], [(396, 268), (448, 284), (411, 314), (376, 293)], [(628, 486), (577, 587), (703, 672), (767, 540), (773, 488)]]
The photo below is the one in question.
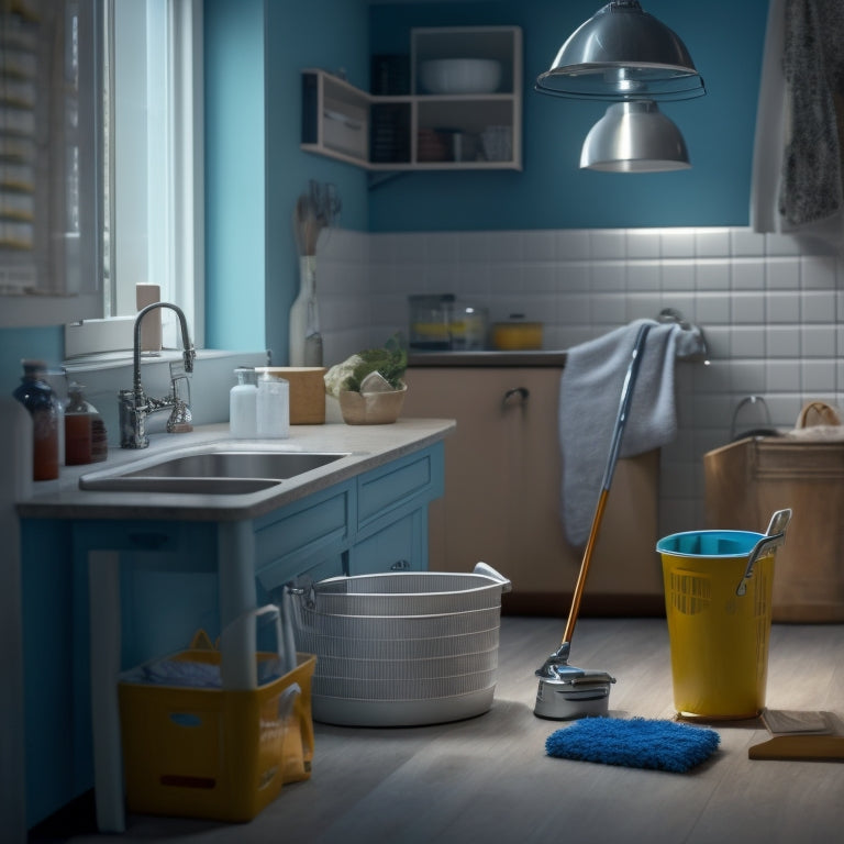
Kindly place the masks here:
[(97, 0), (0, 3), (0, 325), (98, 307)]

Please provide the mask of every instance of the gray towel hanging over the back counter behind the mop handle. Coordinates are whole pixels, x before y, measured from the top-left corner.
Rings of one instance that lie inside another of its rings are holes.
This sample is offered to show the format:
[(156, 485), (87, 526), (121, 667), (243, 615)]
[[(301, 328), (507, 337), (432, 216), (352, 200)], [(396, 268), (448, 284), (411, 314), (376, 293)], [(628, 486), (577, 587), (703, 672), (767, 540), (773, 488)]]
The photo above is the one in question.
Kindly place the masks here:
[(651, 323), (621, 441), (621, 457), (671, 442), (677, 433), (674, 400), (676, 323), (638, 320), (568, 349), (559, 387), (563, 454), (562, 518), (566, 538), (582, 546), (610, 454), (621, 390), (636, 334)]

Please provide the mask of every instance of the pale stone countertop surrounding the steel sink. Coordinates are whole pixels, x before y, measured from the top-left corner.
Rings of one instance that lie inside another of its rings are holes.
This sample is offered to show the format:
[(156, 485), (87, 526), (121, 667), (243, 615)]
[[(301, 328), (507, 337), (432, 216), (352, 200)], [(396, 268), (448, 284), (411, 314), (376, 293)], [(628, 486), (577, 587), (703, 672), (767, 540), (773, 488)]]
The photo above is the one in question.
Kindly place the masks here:
[[(33, 485), (31, 497), (20, 500), (20, 517), (31, 519), (163, 519), (187, 521), (236, 521), (254, 519), (310, 496), (347, 478), (360, 475), (443, 440), (454, 429), (453, 420), (399, 419), (388, 425), (291, 425), (285, 440), (234, 440), (229, 424), (202, 425), (187, 434), (151, 436), (143, 451), (110, 448), (108, 460), (62, 468), (57, 480)], [(153, 463), (169, 454), (197, 446), (232, 447), (241, 451), (347, 452), (326, 466), (270, 488), (243, 495), (142, 493), (84, 490), (79, 478), (130, 463)]]

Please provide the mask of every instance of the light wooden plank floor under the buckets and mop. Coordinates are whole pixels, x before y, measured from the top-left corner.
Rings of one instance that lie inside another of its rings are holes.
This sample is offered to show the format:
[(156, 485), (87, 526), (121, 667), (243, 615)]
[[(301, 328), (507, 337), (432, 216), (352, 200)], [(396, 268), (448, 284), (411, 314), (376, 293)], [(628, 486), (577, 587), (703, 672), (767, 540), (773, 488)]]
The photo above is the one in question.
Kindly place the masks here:
[[(533, 714), (534, 670), (562, 635), (557, 619), (504, 617), (492, 710), (414, 729), (316, 726), (310, 781), (285, 786), (248, 824), (131, 815), (124, 835), (33, 841), (181, 844), (649, 842), (742, 844), (841, 840), (844, 764), (752, 762), (757, 721), (714, 724), (721, 746), (690, 774), (551, 758), (556, 722)], [(610, 714), (673, 718), (665, 620), (581, 619), (571, 663), (618, 678)], [(775, 624), (767, 703), (844, 714), (844, 625)], [(90, 821), (89, 821), (90, 823)], [(0, 836), (1, 837), (1, 836)]]

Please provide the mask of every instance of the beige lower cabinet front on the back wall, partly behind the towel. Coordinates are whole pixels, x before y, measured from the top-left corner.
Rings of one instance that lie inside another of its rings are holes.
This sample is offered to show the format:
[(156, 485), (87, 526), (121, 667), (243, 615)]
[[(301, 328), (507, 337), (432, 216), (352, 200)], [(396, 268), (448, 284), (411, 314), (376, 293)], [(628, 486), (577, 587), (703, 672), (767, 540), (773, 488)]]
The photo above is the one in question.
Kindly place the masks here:
[[(565, 614), (581, 562), (559, 515), (560, 376), (556, 368), (442, 367), (412, 368), (406, 378), (407, 415), (457, 421), (445, 442), (445, 495), (430, 510), (429, 567), (466, 571), (484, 560), (511, 579), (508, 606), (519, 612)], [(662, 606), (657, 475), (656, 453), (619, 463), (584, 611)]]

